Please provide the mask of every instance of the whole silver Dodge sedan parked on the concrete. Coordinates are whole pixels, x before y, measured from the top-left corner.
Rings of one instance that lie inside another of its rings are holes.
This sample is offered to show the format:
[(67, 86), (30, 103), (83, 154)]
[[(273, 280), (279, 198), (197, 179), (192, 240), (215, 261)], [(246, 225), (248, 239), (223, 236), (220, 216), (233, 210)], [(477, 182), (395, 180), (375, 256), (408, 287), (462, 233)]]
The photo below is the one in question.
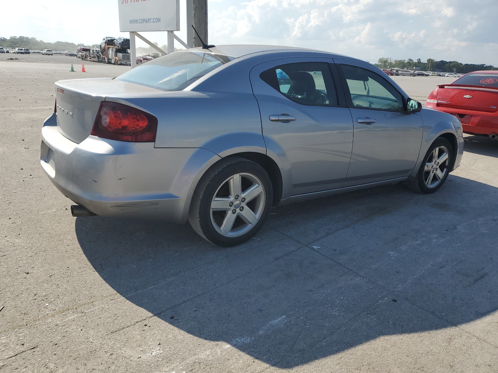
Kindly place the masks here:
[(328, 52), (193, 48), (55, 93), (41, 166), (73, 216), (188, 219), (221, 246), (271, 206), (400, 182), (435, 192), (463, 154), (455, 116)]

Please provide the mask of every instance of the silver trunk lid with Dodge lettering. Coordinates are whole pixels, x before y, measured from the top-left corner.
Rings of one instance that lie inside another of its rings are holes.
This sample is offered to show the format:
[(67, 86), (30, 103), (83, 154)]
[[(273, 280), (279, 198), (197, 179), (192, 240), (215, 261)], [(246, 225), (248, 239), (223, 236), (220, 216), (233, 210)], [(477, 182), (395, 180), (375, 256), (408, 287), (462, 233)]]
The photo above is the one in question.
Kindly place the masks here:
[(57, 127), (78, 144), (92, 132), (100, 103), (107, 95), (162, 92), (113, 78), (64, 80), (56, 82), (55, 87)]

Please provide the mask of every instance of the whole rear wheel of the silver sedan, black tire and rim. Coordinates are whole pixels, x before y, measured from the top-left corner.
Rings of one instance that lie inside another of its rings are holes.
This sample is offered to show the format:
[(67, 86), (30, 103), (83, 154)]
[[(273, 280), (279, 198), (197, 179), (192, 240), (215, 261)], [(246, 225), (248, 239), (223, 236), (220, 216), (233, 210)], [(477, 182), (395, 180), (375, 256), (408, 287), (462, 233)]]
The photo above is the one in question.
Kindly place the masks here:
[(212, 167), (200, 180), (188, 219), (212, 244), (237, 246), (259, 231), (272, 200), (266, 171), (255, 162), (232, 157)]

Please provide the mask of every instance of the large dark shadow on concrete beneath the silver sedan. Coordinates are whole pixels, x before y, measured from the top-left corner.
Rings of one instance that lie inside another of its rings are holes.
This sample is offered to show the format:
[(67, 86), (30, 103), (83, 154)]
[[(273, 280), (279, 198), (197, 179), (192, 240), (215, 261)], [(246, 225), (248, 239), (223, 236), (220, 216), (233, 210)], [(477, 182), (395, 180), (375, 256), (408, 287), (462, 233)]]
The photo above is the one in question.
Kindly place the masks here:
[(281, 206), (235, 248), (188, 224), (96, 216), (75, 229), (91, 265), (130, 302), (290, 368), (497, 310), (496, 196), (450, 175), (430, 195), (395, 185)]

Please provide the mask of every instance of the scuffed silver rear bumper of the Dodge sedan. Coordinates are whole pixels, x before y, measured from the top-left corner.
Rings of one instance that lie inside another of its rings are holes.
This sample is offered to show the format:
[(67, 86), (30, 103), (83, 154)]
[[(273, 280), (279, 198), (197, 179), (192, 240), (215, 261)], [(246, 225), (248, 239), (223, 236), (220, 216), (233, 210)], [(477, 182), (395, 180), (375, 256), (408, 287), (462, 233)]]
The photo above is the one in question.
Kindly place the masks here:
[[(185, 172), (197, 171), (186, 171), (185, 165), (198, 157), (198, 149), (154, 148), (154, 143), (94, 136), (78, 144), (55, 124), (52, 115), (43, 125), (40, 164), (65, 196), (97, 215), (185, 222), (190, 185), (182, 180), (189, 179)], [(213, 156), (202, 151), (208, 159)]]

